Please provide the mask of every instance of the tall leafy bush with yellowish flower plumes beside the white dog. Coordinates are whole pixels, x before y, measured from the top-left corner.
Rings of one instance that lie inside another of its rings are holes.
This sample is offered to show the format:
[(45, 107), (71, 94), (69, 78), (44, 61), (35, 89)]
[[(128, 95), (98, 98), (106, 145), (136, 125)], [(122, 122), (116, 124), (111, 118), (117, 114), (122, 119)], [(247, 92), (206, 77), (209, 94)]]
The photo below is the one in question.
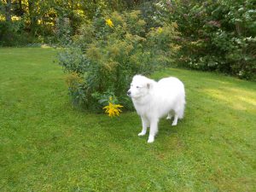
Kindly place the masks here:
[(177, 24), (155, 27), (146, 32), (140, 11), (102, 16), (97, 13), (90, 23), (81, 26), (73, 44), (60, 54), (60, 64), (68, 73), (76, 73), (70, 89), (73, 101), (83, 101), (91, 110), (102, 108), (108, 97), (126, 109), (126, 96), (133, 75), (149, 74), (172, 63), (178, 47), (174, 44)]

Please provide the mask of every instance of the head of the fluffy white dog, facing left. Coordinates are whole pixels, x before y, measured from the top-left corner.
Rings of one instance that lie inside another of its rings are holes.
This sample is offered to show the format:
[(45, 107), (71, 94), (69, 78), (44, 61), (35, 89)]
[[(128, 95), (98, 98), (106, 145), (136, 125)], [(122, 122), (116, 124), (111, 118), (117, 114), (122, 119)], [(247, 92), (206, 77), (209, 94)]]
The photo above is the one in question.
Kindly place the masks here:
[(127, 91), (127, 96), (133, 99), (146, 96), (148, 91), (152, 89), (154, 80), (148, 79), (142, 75), (135, 75), (131, 81), (130, 90)]

